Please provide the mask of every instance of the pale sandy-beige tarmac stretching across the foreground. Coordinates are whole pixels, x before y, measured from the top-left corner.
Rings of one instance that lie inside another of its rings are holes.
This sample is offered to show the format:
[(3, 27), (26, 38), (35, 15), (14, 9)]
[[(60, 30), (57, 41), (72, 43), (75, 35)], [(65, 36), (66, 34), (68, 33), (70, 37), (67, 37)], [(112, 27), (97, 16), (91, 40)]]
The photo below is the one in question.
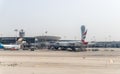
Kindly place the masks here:
[(120, 74), (120, 49), (0, 50), (0, 74)]

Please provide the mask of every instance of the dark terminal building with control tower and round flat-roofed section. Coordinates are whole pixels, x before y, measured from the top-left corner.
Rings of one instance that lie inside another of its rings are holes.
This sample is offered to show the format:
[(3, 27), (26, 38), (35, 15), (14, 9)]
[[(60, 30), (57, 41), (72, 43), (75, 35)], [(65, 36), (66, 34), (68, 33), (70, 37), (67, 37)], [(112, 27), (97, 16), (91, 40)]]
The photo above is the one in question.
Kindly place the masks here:
[[(15, 29), (17, 33), (17, 29)], [(35, 37), (26, 37), (25, 32), (23, 29), (19, 31), (19, 36), (17, 37), (0, 37), (0, 43), (3, 44), (15, 44), (16, 41), (19, 38), (23, 38), (24, 41), (26, 41), (28, 44), (34, 44), (34, 43), (46, 43), (46, 42), (52, 42), (57, 41), (60, 39), (58, 36), (35, 36)]]

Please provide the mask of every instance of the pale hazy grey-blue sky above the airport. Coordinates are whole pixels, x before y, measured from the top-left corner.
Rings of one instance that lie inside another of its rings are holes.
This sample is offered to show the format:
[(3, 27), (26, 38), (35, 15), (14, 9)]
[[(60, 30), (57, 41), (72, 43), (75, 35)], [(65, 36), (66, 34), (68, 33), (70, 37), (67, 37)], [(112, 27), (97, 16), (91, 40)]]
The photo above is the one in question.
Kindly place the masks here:
[(120, 0), (0, 0), (0, 35), (60, 36), (80, 39), (80, 26), (88, 29), (87, 40), (120, 41)]

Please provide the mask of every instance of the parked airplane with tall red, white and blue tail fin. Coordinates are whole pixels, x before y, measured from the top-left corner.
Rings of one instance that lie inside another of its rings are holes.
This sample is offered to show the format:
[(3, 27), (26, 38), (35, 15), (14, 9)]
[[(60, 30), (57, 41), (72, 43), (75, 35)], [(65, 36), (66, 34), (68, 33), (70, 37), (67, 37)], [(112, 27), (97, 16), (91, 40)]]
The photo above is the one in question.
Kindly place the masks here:
[(87, 30), (85, 26), (81, 26), (81, 40), (61, 40), (50, 45), (49, 49), (67, 49), (71, 48), (73, 51), (76, 51), (76, 48), (83, 48), (87, 46), (88, 42), (85, 41)]

